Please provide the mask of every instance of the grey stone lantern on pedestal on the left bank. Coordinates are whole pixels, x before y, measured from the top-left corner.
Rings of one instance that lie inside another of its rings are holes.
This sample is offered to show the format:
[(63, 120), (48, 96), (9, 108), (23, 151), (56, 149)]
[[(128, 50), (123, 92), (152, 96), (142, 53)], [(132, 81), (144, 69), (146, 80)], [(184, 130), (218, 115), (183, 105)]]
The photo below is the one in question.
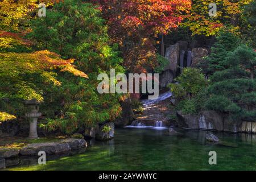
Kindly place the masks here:
[(38, 138), (38, 131), (36, 129), (36, 126), (38, 124), (38, 118), (42, 115), (42, 113), (39, 113), (39, 104), (40, 102), (36, 99), (24, 101), (24, 104), (27, 105), (30, 108), (30, 111), (26, 113), (27, 118), (31, 118), (32, 121), (30, 121), (30, 135), (28, 138), (34, 139)]

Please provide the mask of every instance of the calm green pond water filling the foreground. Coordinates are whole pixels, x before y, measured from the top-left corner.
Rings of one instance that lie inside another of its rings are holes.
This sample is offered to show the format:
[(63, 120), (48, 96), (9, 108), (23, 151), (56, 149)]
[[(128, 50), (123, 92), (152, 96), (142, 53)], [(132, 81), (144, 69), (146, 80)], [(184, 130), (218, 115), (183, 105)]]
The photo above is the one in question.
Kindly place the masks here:
[[(214, 133), (222, 142), (213, 144), (207, 131), (176, 130), (116, 129), (113, 140), (91, 141), (80, 154), (6, 170), (256, 170), (256, 135)], [(209, 151), (217, 165), (208, 163)]]

